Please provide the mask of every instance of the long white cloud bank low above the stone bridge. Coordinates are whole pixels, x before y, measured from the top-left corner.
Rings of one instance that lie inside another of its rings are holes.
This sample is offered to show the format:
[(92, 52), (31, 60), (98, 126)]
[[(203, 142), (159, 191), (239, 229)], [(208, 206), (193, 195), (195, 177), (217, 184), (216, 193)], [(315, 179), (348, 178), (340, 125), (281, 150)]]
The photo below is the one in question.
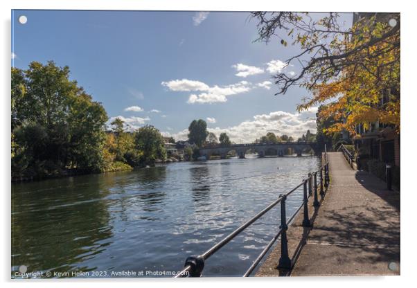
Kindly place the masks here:
[[(314, 109), (312, 109), (314, 111)], [(208, 132), (213, 132), (216, 136), (225, 132), (231, 138), (231, 141), (240, 143), (252, 143), (256, 138), (260, 138), (273, 132), (278, 135), (286, 134), (297, 139), (305, 134), (308, 129), (310, 132), (316, 132), (315, 118), (307, 117), (302, 113), (290, 113), (286, 111), (273, 111), (269, 114), (259, 114), (252, 119), (245, 120), (242, 123), (231, 127), (208, 128)], [(163, 132), (164, 136), (172, 136), (176, 141), (187, 140), (188, 129), (177, 133)]]

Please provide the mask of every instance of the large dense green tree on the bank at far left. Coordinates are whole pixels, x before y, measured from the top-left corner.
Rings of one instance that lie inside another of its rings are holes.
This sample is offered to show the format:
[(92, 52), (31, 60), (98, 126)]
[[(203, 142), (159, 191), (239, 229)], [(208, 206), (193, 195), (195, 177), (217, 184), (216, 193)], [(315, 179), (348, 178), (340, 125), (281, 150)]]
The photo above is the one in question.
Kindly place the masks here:
[(12, 177), (103, 170), (106, 111), (69, 72), (52, 61), (12, 68)]

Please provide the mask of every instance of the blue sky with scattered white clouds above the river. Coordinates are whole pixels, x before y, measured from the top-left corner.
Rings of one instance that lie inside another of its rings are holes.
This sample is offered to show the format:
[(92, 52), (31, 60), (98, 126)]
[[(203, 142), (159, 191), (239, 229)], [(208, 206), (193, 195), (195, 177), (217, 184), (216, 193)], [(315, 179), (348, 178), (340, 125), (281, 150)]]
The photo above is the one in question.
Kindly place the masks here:
[[(339, 21), (350, 26), (351, 13)], [(317, 107), (296, 112), (308, 91), (274, 95), (272, 75), (296, 75), (295, 63), (283, 67), (301, 50), (278, 38), (255, 42), (256, 24), (248, 12), (12, 10), (12, 66), (69, 66), (71, 80), (103, 103), (109, 123), (154, 125), (175, 140), (186, 140), (199, 118), (236, 143), (267, 132), (315, 132)]]

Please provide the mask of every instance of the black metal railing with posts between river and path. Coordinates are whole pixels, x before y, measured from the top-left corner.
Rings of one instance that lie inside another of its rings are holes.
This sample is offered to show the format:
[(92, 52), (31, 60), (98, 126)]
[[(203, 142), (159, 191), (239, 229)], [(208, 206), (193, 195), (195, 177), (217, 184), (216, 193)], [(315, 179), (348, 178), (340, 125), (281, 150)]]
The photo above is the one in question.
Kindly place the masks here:
[[(319, 174), (319, 182), (317, 181), (317, 174)], [(215, 252), (220, 250), (224, 245), (231, 242), (234, 237), (239, 235), (242, 231), (244, 231), (247, 227), (251, 226), (256, 220), (258, 220), (260, 217), (262, 217), (265, 213), (267, 213), (269, 210), (274, 208), (277, 204), (281, 204), (281, 225), (279, 226), (279, 231), (272, 237), (272, 240), (265, 246), (265, 249), (258, 255), (258, 258), (251, 264), (251, 267), (247, 269), (244, 277), (247, 277), (251, 274), (252, 271), (256, 268), (256, 266), (259, 264), (259, 262), (263, 259), (263, 257), (266, 255), (266, 253), (269, 251), (269, 249), (272, 247), (272, 245), (278, 240), (278, 237), (281, 236), (281, 257), (278, 260), (278, 268), (284, 268), (284, 269), (290, 269), (292, 267), (292, 260), (290, 259), (288, 255), (288, 242), (287, 242), (287, 229), (288, 224), (292, 222), (292, 220), (296, 217), (296, 215), (299, 213), (301, 208), (303, 208), (303, 223), (302, 225), (305, 227), (310, 227), (310, 218), (308, 214), (308, 199), (310, 197), (314, 197), (313, 200), (313, 206), (318, 207), (320, 205), (319, 202), (319, 195), (318, 190), (320, 190), (321, 198), (324, 197), (324, 191), (328, 188), (330, 182), (329, 172), (328, 172), (328, 161), (327, 161), (327, 153), (325, 153), (325, 162), (324, 165), (322, 164), (320, 169), (308, 173), (308, 178), (301, 181), (301, 183), (293, 188), (290, 192), (287, 192), (285, 194), (279, 195), (278, 199), (276, 199), (274, 202), (269, 204), (267, 207), (265, 207), (263, 210), (261, 210), (258, 214), (256, 214), (254, 217), (251, 217), (247, 222), (236, 228), (235, 231), (224, 237), (220, 242), (212, 246), (210, 249), (202, 253), (201, 255), (190, 255), (188, 258), (186, 258), (186, 262), (184, 264), (184, 269), (177, 273), (175, 278), (181, 278), (181, 277), (201, 277), (202, 271), (204, 269), (204, 262), (210, 258), (211, 255), (213, 255)], [(291, 195), (294, 191), (299, 189), (301, 186), (303, 186), (303, 203), (299, 208), (296, 209), (295, 213), (290, 217), (290, 219), (287, 220), (286, 216), (286, 206), (285, 201), (289, 195)]]

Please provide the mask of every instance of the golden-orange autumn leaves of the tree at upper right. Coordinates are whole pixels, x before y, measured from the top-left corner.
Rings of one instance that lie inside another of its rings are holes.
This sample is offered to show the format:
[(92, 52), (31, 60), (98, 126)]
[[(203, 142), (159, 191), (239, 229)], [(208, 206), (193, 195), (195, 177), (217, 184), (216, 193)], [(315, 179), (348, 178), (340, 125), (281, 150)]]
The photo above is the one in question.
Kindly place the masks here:
[(327, 134), (343, 129), (355, 134), (355, 125), (362, 124), (364, 129), (369, 129), (376, 121), (400, 132), (399, 30), (374, 45), (364, 45), (382, 37), (390, 28), (387, 23), (373, 19), (360, 21), (353, 26), (351, 38), (335, 43), (347, 54), (347, 65), (337, 77), (314, 84), (310, 89), (312, 98), (298, 107), (303, 110), (327, 104), (318, 115), (336, 120), (326, 129)]

